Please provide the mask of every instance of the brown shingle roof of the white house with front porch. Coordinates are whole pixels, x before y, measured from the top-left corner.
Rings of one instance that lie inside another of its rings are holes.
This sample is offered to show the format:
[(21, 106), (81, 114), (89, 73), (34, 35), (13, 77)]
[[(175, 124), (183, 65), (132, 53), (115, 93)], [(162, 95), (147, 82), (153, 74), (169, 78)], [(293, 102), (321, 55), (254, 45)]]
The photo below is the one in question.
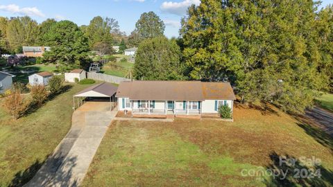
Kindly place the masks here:
[(132, 100), (235, 99), (229, 83), (200, 81), (121, 82), (116, 96)]

